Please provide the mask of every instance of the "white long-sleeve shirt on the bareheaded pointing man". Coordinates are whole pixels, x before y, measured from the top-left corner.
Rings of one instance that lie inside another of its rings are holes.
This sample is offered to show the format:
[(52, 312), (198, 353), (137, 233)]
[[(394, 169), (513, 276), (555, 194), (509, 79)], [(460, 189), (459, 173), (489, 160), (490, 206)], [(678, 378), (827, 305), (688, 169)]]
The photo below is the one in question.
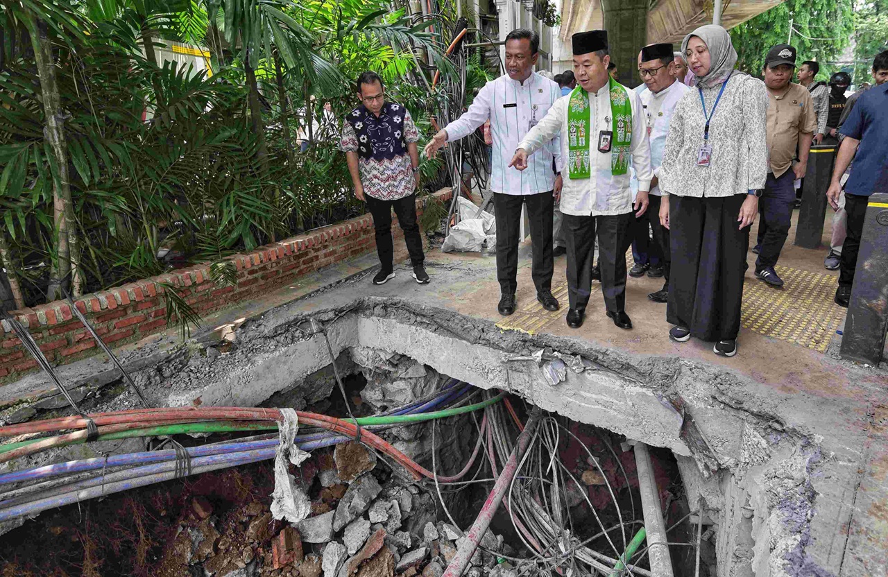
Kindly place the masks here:
[(503, 194), (546, 193), (555, 186), (553, 159), (561, 170), (561, 147), (557, 135), (551, 142), (543, 143), (543, 151), (528, 160), (526, 170), (509, 168), (509, 162), (531, 123), (541, 121), (559, 98), (558, 83), (544, 76), (533, 73), (522, 84), (509, 75), (502, 75), (485, 84), (464, 115), (444, 130), (447, 130), (448, 141), (452, 142), (469, 136), (489, 119), (494, 141), (490, 189)]

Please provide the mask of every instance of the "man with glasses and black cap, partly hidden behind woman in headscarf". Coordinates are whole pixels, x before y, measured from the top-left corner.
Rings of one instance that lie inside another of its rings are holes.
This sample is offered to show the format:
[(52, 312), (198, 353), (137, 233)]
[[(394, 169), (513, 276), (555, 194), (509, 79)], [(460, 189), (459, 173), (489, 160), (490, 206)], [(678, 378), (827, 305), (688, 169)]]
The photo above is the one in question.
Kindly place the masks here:
[[(663, 194), (658, 186), (660, 165), (663, 160), (663, 148), (666, 146), (666, 136), (669, 134), (672, 112), (675, 110), (678, 100), (690, 89), (677, 80), (672, 44), (650, 44), (642, 48), (638, 55), (638, 75), (641, 76), (641, 80), (644, 81), (647, 88), (646, 91), (641, 91), (639, 96), (641, 104), (645, 107), (647, 138), (651, 145), (651, 168), (654, 170), (654, 178), (651, 180), (651, 191), (648, 197), (650, 206), (638, 220), (643, 225), (645, 235), (648, 223), (650, 223), (650, 228), (654, 233), (654, 242), (662, 254), (662, 270), (665, 277), (663, 288), (647, 297), (654, 303), (665, 303), (669, 300), (671, 258), (669, 229), (660, 223), (660, 206)], [(632, 187), (637, 188), (637, 186), (638, 178), (633, 175)]]

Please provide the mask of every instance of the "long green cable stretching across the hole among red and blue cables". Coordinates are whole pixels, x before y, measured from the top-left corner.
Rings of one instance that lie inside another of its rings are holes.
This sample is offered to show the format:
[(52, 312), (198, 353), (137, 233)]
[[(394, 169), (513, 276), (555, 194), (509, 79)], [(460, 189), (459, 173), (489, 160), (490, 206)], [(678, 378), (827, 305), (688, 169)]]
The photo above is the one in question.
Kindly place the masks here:
[[(456, 407), (456, 408), (448, 408), (441, 411), (433, 411), (432, 413), (424, 413), (419, 415), (386, 415), (386, 416), (365, 416), (359, 419), (355, 419), (355, 421), (361, 425), (362, 427), (370, 426), (370, 425), (380, 425), (380, 424), (397, 424), (397, 423), (422, 423), (423, 421), (431, 421), (432, 419), (443, 419), (448, 416), (453, 415), (462, 415), (464, 413), (471, 413), (472, 411), (480, 410), (484, 407), (489, 407), (499, 400), (503, 399), (505, 395), (504, 392), (496, 395), (492, 399), (487, 399), (481, 401), (480, 403), (476, 403), (474, 405), (466, 405), (465, 407)], [(351, 419), (344, 419), (345, 421), (351, 421)], [(229, 422), (230, 423), (230, 422)], [(226, 424), (226, 423), (218, 423), (218, 422), (206, 422), (206, 423), (179, 423), (179, 424), (168, 424), (168, 425), (158, 425), (155, 427), (147, 427), (145, 429), (133, 429), (132, 431), (117, 431), (111, 433), (105, 433), (103, 435), (99, 435), (99, 438), (96, 440), (106, 441), (106, 440), (114, 440), (114, 439), (129, 439), (131, 437), (157, 437), (162, 435), (180, 435), (184, 433), (195, 433), (195, 432), (234, 432), (234, 431), (276, 431), (277, 430), (277, 422), (270, 421), (268, 423), (250, 423), (250, 424)], [(0, 445), (0, 453), (6, 453), (7, 451), (12, 451), (13, 449), (17, 449), (19, 447), (26, 447), (38, 441), (46, 439), (45, 437), (41, 437), (39, 439), (28, 439), (24, 441), (18, 441), (16, 443), (7, 443), (6, 445)], [(75, 440), (70, 443), (65, 443), (64, 445), (57, 445), (56, 447), (65, 447), (66, 445), (74, 445), (85, 442), (84, 439)]]

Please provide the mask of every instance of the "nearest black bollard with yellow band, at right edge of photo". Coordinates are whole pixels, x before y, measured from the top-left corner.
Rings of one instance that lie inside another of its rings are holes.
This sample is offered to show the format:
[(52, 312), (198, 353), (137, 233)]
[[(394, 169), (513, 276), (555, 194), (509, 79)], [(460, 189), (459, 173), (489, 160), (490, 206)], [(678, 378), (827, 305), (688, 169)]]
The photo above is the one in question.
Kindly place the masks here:
[(888, 332), (888, 193), (869, 197), (841, 355), (878, 367)]

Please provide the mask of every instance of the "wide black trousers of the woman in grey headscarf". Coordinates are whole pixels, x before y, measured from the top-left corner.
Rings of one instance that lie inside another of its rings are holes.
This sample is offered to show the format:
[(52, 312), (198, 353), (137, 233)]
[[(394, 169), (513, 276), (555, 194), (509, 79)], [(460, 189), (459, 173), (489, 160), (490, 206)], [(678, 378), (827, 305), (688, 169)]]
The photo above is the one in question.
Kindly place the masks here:
[(749, 226), (737, 217), (746, 194), (722, 198), (670, 195), (670, 277), (666, 320), (704, 341), (737, 338)]

